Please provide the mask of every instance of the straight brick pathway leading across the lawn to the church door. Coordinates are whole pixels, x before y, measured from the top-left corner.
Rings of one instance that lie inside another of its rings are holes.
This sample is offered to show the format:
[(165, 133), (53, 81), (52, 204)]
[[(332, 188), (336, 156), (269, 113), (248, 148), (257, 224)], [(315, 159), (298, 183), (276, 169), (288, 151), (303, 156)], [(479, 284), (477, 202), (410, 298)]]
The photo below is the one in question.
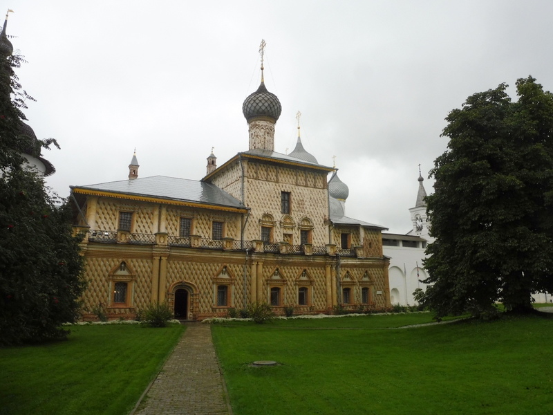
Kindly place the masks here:
[(232, 415), (211, 326), (196, 322), (186, 326), (146, 397), (131, 415)]

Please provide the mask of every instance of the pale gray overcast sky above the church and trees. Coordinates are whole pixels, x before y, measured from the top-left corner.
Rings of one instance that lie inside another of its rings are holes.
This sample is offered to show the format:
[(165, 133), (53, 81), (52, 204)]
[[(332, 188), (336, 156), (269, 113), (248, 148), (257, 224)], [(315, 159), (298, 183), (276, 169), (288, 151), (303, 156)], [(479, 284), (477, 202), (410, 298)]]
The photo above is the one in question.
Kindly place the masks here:
[(282, 104), (275, 151), (303, 146), (349, 186), (346, 214), (411, 228), (418, 165), (447, 147), (444, 118), (476, 92), (533, 75), (553, 89), (553, 1), (12, 0), (8, 35), (37, 99), (25, 111), (60, 196), (139, 175), (199, 180), (247, 150), (242, 103)]

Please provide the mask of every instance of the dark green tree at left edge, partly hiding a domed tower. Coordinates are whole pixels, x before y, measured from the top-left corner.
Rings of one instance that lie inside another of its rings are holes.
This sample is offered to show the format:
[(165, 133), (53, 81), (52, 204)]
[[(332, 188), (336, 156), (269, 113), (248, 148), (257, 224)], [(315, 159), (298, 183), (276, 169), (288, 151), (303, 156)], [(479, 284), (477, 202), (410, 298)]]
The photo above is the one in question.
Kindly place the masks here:
[(40, 156), (54, 141), (37, 140), (23, 123), (32, 98), (13, 71), (21, 58), (12, 55), (6, 24), (0, 55), (0, 344), (64, 338), (62, 324), (78, 317), (84, 288), (79, 237), (67, 203), (24, 167), (22, 154)]

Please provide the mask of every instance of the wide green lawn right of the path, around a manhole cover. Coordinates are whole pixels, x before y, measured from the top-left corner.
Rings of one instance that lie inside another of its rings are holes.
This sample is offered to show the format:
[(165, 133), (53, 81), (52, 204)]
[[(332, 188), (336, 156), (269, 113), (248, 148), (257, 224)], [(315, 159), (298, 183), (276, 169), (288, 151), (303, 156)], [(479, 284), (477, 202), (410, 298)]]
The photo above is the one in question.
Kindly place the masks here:
[(552, 319), (386, 329), (430, 321), (279, 320), (213, 334), (235, 415), (553, 413)]

